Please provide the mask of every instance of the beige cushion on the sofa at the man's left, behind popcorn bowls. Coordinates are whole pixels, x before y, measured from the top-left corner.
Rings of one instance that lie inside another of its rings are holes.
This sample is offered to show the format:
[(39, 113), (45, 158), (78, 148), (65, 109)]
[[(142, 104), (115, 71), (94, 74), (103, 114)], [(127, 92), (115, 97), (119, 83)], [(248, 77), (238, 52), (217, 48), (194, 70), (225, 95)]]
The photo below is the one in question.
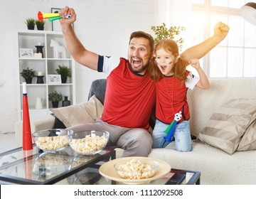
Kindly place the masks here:
[(92, 95), (87, 102), (50, 109), (50, 111), (68, 128), (77, 124), (95, 122), (95, 119), (102, 117), (103, 105), (95, 95)]

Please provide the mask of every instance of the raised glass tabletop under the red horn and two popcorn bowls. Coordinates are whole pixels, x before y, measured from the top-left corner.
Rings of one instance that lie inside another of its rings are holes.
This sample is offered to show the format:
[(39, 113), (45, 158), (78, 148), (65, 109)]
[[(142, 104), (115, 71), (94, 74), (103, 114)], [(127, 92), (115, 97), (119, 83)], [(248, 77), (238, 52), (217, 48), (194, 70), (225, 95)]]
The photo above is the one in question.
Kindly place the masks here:
[(110, 158), (115, 158), (114, 150), (102, 150), (92, 156), (82, 156), (70, 146), (54, 153), (43, 152), (36, 146), (29, 151), (18, 148), (0, 154), (0, 181), (53, 184)]

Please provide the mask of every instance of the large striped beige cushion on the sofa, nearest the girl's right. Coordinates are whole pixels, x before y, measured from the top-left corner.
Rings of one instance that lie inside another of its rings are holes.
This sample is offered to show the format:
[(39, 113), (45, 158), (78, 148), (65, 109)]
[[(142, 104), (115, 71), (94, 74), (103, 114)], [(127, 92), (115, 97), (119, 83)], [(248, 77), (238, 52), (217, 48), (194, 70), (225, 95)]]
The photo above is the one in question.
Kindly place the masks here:
[(198, 138), (233, 154), (255, 119), (256, 99), (230, 99), (212, 114)]

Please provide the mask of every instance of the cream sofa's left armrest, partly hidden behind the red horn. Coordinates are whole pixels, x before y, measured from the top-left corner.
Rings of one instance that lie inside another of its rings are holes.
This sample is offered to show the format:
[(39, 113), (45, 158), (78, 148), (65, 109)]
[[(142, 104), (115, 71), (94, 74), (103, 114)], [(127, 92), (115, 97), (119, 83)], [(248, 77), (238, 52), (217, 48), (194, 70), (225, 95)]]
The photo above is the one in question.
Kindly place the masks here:
[[(40, 131), (43, 129), (53, 129), (55, 122), (55, 117), (48, 116), (43, 117), (43, 119), (37, 119), (31, 121), (31, 134), (36, 131)], [(23, 135), (23, 122), (18, 121), (15, 123), (15, 141), (16, 146), (22, 146), (22, 135)]]

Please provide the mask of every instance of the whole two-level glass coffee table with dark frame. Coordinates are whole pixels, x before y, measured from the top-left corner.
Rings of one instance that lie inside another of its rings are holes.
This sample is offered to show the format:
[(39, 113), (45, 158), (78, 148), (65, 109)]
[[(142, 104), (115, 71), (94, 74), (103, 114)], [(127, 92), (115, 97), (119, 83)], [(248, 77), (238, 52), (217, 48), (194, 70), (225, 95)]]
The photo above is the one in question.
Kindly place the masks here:
[[(0, 184), (122, 184), (99, 173), (100, 166), (116, 158), (112, 149), (99, 154), (82, 156), (70, 146), (55, 153), (44, 153), (36, 146), (29, 151), (22, 148), (0, 154)], [(152, 185), (200, 184), (201, 173), (171, 169), (166, 176), (151, 181)]]

